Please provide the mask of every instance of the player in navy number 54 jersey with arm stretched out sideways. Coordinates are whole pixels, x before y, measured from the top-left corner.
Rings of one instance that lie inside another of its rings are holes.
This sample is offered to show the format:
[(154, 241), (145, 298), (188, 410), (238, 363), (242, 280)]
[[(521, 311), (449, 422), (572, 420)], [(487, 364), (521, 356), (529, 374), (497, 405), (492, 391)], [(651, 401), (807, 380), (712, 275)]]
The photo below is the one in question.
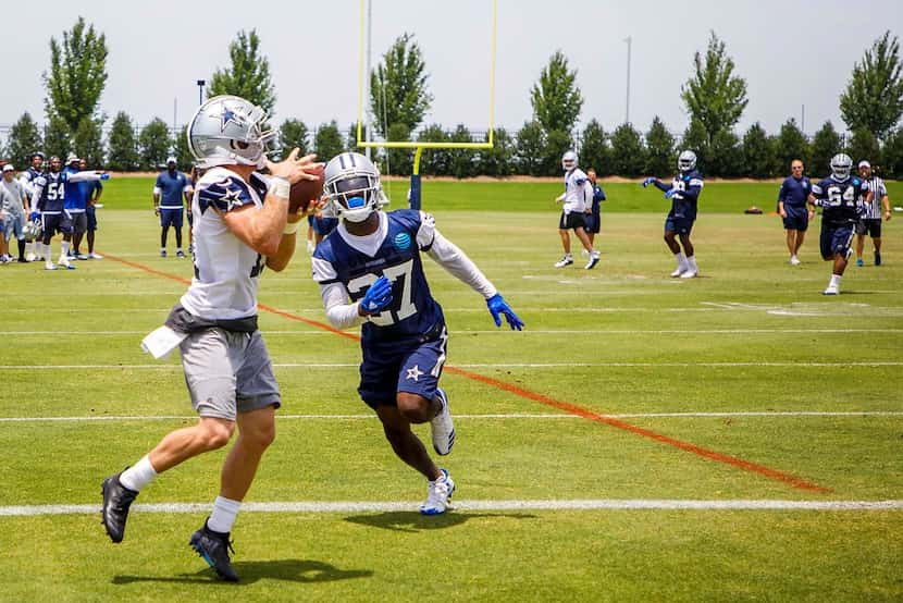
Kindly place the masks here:
[(51, 261), (50, 241), (53, 235), (62, 233), (63, 242), (60, 245), (59, 263), (67, 270), (75, 270), (69, 258), (69, 249), (72, 242), (72, 233), (74, 232), (72, 224), (72, 214), (65, 208), (66, 187), (75, 183), (89, 180), (108, 180), (110, 174), (88, 170), (85, 172), (73, 172), (72, 170), (62, 170), (62, 161), (59, 157), (50, 158), (50, 171), (44, 175), (37, 176), (34, 181), (34, 195), (32, 196), (32, 219), (36, 218), (39, 212), (42, 222), (44, 234), (42, 241), (44, 251), (40, 254), (45, 257), (46, 270), (57, 270), (57, 266)]

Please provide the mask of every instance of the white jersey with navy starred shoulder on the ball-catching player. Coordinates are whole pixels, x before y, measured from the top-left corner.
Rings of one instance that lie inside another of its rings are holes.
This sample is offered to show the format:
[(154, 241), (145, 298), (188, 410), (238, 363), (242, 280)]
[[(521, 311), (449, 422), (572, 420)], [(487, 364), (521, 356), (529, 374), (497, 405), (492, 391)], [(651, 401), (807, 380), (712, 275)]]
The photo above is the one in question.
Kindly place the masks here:
[(191, 199), (195, 276), (181, 300), (191, 315), (234, 320), (257, 313), (258, 281), (267, 260), (232, 234), (221, 214), (249, 204), (260, 210), (267, 186), (257, 172), (245, 182), (225, 168), (212, 168), (198, 181)]

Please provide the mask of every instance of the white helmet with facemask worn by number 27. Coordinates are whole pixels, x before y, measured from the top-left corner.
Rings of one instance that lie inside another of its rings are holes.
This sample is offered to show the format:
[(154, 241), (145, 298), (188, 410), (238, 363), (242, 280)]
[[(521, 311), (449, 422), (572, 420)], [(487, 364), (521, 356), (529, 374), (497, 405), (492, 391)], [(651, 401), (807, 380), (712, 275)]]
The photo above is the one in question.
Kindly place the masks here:
[(380, 170), (359, 152), (333, 157), (323, 170), (323, 193), (329, 197), (326, 214), (363, 222), (388, 205), (380, 184)]

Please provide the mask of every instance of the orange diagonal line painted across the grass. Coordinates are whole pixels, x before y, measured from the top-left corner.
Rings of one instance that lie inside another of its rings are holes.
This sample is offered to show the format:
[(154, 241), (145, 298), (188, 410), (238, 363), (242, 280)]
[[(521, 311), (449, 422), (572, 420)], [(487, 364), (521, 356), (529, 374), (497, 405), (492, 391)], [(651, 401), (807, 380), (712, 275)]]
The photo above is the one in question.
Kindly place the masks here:
[[(110, 256), (108, 256), (108, 257), (110, 257)], [(189, 282), (189, 281), (187, 281), (187, 280), (185, 280), (181, 276), (175, 276), (173, 274), (166, 274), (165, 272), (160, 272), (158, 270), (150, 269), (150, 268), (148, 268), (146, 266), (141, 266), (139, 263), (129, 262), (127, 260), (117, 259), (115, 257), (110, 257), (110, 259), (121, 261), (121, 262), (125, 263), (126, 266), (131, 266), (133, 268), (136, 268), (137, 270), (141, 270), (141, 271), (148, 272), (150, 274), (157, 274), (157, 275), (163, 276), (165, 279), (171, 279), (171, 280), (174, 280), (174, 281), (178, 281), (181, 283), (188, 283)], [(345, 331), (339, 331), (338, 329), (335, 329), (332, 325), (320, 322), (320, 321), (316, 321), (316, 320), (304, 318), (304, 317), (300, 317), (300, 316), (297, 316), (297, 315), (285, 312), (285, 311), (276, 309), (276, 308), (273, 308), (271, 306), (264, 306), (262, 304), (259, 305), (259, 308), (261, 310), (269, 311), (271, 313), (282, 316), (282, 317), (287, 318), (289, 320), (304, 322), (305, 324), (310, 324), (310, 325), (313, 325), (313, 327), (318, 327), (320, 329), (324, 329), (326, 331), (330, 331), (331, 333), (335, 333), (336, 335), (339, 335), (339, 336), (345, 337), (345, 339), (352, 340), (355, 342), (360, 341), (360, 336), (357, 335), (357, 334), (347, 333)], [(601, 365), (601, 366), (610, 366), (610, 365)], [(642, 365), (638, 365), (638, 366), (642, 366)], [(647, 438), (650, 440), (659, 442), (661, 444), (673, 446), (678, 450), (682, 450), (684, 452), (695, 454), (696, 456), (700, 456), (702, 458), (707, 458), (709, 460), (715, 460), (717, 463), (723, 463), (726, 465), (730, 465), (732, 467), (737, 467), (737, 468), (743, 469), (745, 471), (750, 471), (750, 472), (757, 473), (759, 476), (763, 476), (763, 477), (766, 477), (766, 478), (769, 478), (769, 479), (772, 479), (772, 480), (783, 482), (783, 483), (786, 483), (786, 484), (788, 484), (792, 488), (795, 488), (795, 489), (808, 490), (808, 491), (812, 491), (812, 492), (822, 492), (822, 493), (831, 492), (831, 490), (828, 489), (828, 488), (822, 488), (822, 487), (820, 487), (816, 483), (806, 481), (806, 480), (804, 480), (802, 478), (799, 478), (796, 476), (793, 476), (791, 473), (786, 473), (786, 472), (779, 471), (777, 469), (771, 469), (770, 467), (766, 467), (764, 465), (758, 465), (756, 463), (751, 463), (749, 460), (744, 460), (744, 459), (735, 457), (735, 456), (730, 456), (730, 455), (721, 454), (721, 453), (718, 453), (718, 452), (715, 452), (715, 451), (709, 451), (708, 448), (703, 448), (702, 446), (691, 444), (690, 442), (683, 442), (682, 440), (676, 440), (673, 438), (669, 438), (667, 435), (656, 433), (655, 431), (652, 431), (652, 430), (648, 430), (648, 429), (645, 429), (645, 428), (641, 428), (641, 427), (636, 427), (634, 424), (624, 422), (620, 419), (615, 419), (615, 418), (605, 417), (603, 415), (597, 415), (595, 413), (592, 413), (592, 411), (590, 411), (585, 408), (582, 408), (580, 406), (577, 406), (574, 404), (564, 402), (564, 401), (558, 401), (558, 399), (552, 398), (549, 396), (545, 396), (543, 394), (537, 394), (535, 392), (531, 392), (529, 390), (524, 390), (522, 387), (519, 387), (519, 386), (517, 386), (512, 383), (506, 383), (504, 381), (499, 381), (499, 380), (493, 379), (491, 377), (485, 377), (485, 376), (482, 376), (482, 374), (479, 374), (479, 373), (475, 373), (475, 372), (470, 372), (470, 371), (467, 371), (467, 370), (465, 370), (463, 368), (461, 368), (459, 366), (446, 365), (445, 370), (453, 373), (453, 374), (458, 374), (460, 377), (468, 378), (472, 381), (478, 381), (480, 383), (491, 385), (491, 386), (493, 386), (497, 390), (503, 390), (503, 391), (512, 393), (512, 394), (515, 394), (519, 397), (523, 397), (523, 398), (527, 398), (527, 399), (530, 399), (530, 401), (533, 401), (533, 402), (539, 402), (541, 404), (544, 404), (546, 406), (551, 406), (553, 408), (558, 408), (559, 410), (564, 410), (565, 413), (570, 413), (572, 415), (577, 415), (577, 416), (583, 417), (583, 418), (592, 420), (592, 421), (604, 423), (604, 424), (607, 424), (609, 427), (614, 427), (616, 429), (620, 429), (622, 431), (633, 433), (635, 435), (641, 435), (643, 438)]]

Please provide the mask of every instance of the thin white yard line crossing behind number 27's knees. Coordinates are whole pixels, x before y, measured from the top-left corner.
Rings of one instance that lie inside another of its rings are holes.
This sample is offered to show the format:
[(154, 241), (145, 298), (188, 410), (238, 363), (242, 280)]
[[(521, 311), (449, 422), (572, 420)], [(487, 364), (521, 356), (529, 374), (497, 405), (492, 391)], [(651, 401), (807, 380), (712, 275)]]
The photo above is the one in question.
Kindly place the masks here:
[[(728, 411), (728, 413), (617, 413), (604, 415), (613, 419), (701, 419), (701, 418), (730, 418), (730, 417), (903, 417), (903, 411), (893, 410), (859, 410), (859, 411), (820, 411), (820, 410), (787, 410), (787, 411)], [(197, 415), (109, 415), (84, 417), (0, 417), (0, 423), (25, 422), (90, 422), (90, 421), (169, 421), (194, 420)], [(276, 415), (276, 420), (348, 420), (375, 419), (370, 415)], [(495, 413), (486, 415), (455, 415), (458, 419), (583, 419), (577, 415), (558, 415), (552, 413)]]

